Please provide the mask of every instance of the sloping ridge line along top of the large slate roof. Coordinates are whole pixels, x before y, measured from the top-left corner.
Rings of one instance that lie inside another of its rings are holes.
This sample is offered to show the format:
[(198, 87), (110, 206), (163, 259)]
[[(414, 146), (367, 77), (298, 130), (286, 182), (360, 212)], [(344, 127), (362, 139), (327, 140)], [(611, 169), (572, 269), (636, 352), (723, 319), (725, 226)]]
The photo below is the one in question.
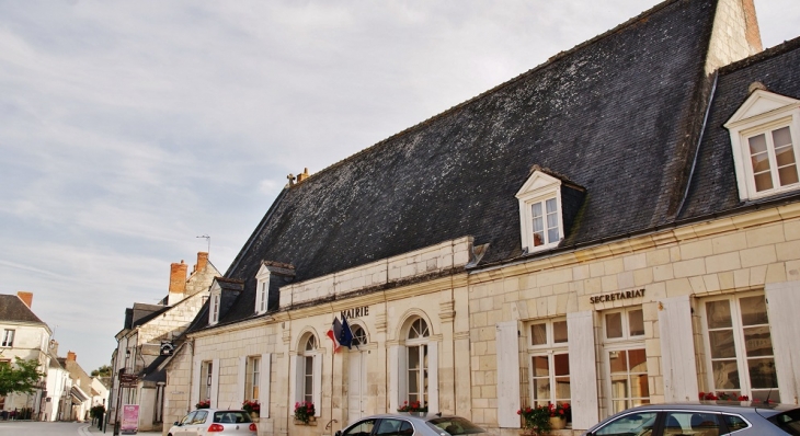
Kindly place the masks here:
[[(642, 21), (644, 21), (644, 19), (647, 19), (647, 18), (649, 18), (649, 16), (658, 13), (662, 9), (665, 9), (665, 8), (670, 7), (670, 5), (672, 5), (673, 3), (678, 3), (678, 2), (682, 2), (682, 1), (686, 1), (686, 0), (665, 0), (665, 1), (661, 2), (661, 3), (659, 3), (659, 4), (655, 4), (652, 8), (650, 8), (648, 10), (639, 13), (638, 15), (636, 15), (636, 16), (633, 16), (631, 19), (628, 19), (627, 21), (625, 21), (625, 22), (622, 22), (620, 24), (617, 24), (615, 27), (613, 27), (613, 28), (610, 28), (610, 30), (608, 30), (608, 31), (606, 31), (604, 33), (601, 33), (599, 35), (596, 35), (596, 36), (594, 36), (594, 37), (592, 37), (590, 39), (586, 39), (586, 41), (584, 41), (584, 42), (582, 42), (582, 43), (573, 46), (572, 48), (569, 48), (567, 50), (559, 51), (556, 55), (550, 56), (545, 62), (539, 64), (536, 67), (534, 67), (534, 68), (532, 68), (532, 69), (529, 69), (527, 71), (524, 71), (524, 72), (522, 72), (522, 73), (519, 73), (519, 74), (517, 74), (517, 76), (515, 76), (515, 77), (506, 80), (503, 83), (500, 83), (500, 84), (498, 84), (495, 87), (492, 87), (492, 88), (490, 88), (490, 89), (481, 92), (478, 95), (475, 95), (475, 96), (472, 96), (472, 97), (470, 97), (468, 100), (465, 100), (461, 103), (458, 103), (458, 104), (456, 104), (454, 106), (450, 106), (450, 107), (444, 110), (443, 112), (439, 112), (436, 115), (430, 116), (430, 117), (423, 119), (422, 122), (420, 122), (418, 124), (414, 124), (413, 126), (407, 127), (407, 128), (404, 128), (404, 129), (402, 129), (402, 130), (400, 130), (400, 131), (398, 131), (398, 133), (396, 133), (396, 134), (393, 134), (391, 136), (388, 136), (388, 137), (379, 140), (378, 142), (373, 144), (372, 146), (368, 146), (366, 148), (363, 148), (363, 149), (356, 151), (355, 153), (353, 153), (353, 154), (351, 154), (351, 156), (348, 156), (348, 157), (346, 157), (346, 158), (344, 158), (342, 160), (339, 160), (339, 161), (336, 161), (336, 162), (334, 162), (334, 163), (332, 163), (332, 164), (323, 168), (322, 170), (320, 170), (320, 171), (318, 171), (318, 172), (316, 172), (313, 174), (310, 174), (307, 179), (304, 180), (304, 182), (306, 182), (307, 180), (311, 180), (311, 179), (313, 179), (316, 176), (319, 176), (322, 173), (332, 171), (332, 170), (334, 170), (334, 169), (343, 165), (345, 162), (348, 162), (351, 160), (354, 160), (355, 158), (357, 158), (361, 154), (370, 152), (374, 149), (376, 149), (377, 147), (382, 146), (382, 145), (389, 142), (390, 140), (392, 140), (392, 139), (395, 139), (397, 137), (400, 137), (400, 136), (405, 135), (408, 133), (411, 133), (411, 131), (421, 129), (421, 128), (425, 127), (426, 125), (428, 125), (430, 123), (432, 123), (432, 122), (434, 122), (436, 119), (439, 119), (439, 118), (444, 118), (445, 116), (449, 115), (450, 113), (453, 113), (453, 112), (455, 112), (455, 111), (457, 111), (457, 110), (459, 110), (461, 107), (465, 107), (465, 106), (467, 106), (467, 105), (469, 105), (469, 104), (471, 104), (471, 103), (480, 100), (481, 97), (483, 97), (485, 95), (492, 94), (492, 93), (494, 93), (494, 92), (496, 92), (496, 91), (499, 91), (501, 89), (511, 87), (514, 83), (517, 83), (518, 81), (521, 81), (521, 80), (523, 80), (523, 79), (532, 76), (533, 73), (535, 73), (535, 72), (537, 72), (539, 70), (545, 69), (546, 67), (549, 67), (549, 66), (556, 64), (557, 61), (559, 61), (559, 60), (561, 60), (561, 59), (563, 59), (563, 58), (565, 58), (565, 57), (568, 57), (568, 56), (570, 56), (570, 55), (572, 55), (572, 54), (574, 54), (574, 53), (576, 53), (576, 51), (579, 51), (579, 50), (581, 50), (581, 49), (583, 49), (583, 48), (585, 48), (587, 46), (591, 46), (593, 44), (596, 44), (597, 42), (599, 42), (602, 39), (605, 39), (606, 37), (608, 37), (610, 35), (614, 35), (616, 33), (619, 33), (620, 31), (622, 31), (626, 27), (629, 27), (629, 26), (632, 26), (633, 24), (637, 24), (637, 23), (642, 22)], [(717, 2), (718, 0), (712, 0), (712, 1)], [(294, 187), (299, 187), (300, 185), (301, 184), (297, 183), (295, 185), (287, 186), (287, 188), (292, 190)]]

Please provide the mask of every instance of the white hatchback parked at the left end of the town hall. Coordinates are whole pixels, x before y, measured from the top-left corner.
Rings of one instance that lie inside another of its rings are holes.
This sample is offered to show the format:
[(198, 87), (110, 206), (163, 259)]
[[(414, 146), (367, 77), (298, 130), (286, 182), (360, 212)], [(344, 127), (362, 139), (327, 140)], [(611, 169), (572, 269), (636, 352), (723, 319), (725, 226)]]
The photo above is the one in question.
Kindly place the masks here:
[(169, 436), (239, 435), (255, 436), (258, 428), (244, 411), (197, 409), (170, 428)]

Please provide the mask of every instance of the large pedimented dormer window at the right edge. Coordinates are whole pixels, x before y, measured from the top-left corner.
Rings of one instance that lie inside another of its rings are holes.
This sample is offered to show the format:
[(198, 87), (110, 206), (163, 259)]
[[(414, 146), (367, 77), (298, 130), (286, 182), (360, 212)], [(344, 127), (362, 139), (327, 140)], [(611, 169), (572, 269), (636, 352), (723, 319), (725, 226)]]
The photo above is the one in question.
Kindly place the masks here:
[(758, 89), (724, 126), (741, 200), (800, 188), (800, 101)]

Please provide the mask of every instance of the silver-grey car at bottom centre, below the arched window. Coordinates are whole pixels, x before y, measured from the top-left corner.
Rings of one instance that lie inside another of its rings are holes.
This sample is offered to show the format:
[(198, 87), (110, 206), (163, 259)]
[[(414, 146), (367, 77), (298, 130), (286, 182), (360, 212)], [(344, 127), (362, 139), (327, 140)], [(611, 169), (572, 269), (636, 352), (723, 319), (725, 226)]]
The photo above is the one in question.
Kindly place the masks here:
[(336, 432), (336, 436), (460, 436), (487, 431), (460, 416), (382, 414), (363, 417)]

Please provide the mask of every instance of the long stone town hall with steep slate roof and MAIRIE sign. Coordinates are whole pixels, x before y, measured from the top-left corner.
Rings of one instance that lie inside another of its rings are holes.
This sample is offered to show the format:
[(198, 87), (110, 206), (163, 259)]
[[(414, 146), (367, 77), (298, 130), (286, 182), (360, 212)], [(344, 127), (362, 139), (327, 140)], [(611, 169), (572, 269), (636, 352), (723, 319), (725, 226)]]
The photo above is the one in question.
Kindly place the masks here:
[(290, 182), (159, 364), (164, 420), (797, 402), (800, 39), (761, 49), (752, 1), (666, 1)]

